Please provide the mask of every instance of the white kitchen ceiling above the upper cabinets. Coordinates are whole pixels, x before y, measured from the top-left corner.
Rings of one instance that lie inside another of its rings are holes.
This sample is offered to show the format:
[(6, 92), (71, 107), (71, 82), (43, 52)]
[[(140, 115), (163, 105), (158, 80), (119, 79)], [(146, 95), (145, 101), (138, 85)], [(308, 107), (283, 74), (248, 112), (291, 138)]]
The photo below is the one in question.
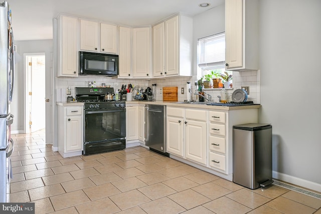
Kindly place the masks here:
[[(12, 9), (15, 40), (52, 39), (53, 18), (59, 13), (139, 27), (171, 15), (195, 16), (225, 0), (7, 0)], [(207, 8), (201, 3), (210, 3)]]

